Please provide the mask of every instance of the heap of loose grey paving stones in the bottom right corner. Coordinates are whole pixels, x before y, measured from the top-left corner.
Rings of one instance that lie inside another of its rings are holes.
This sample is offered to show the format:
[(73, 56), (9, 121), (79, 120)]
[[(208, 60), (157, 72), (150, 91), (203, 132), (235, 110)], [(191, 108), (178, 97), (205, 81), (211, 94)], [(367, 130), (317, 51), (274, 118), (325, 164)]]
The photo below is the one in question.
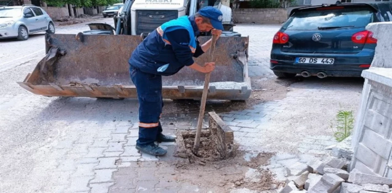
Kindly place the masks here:
[(392, 179), (352, 170), (336, 157), (311, 159), (287, 167), (289, 177), (279, 193), (392, 193)]

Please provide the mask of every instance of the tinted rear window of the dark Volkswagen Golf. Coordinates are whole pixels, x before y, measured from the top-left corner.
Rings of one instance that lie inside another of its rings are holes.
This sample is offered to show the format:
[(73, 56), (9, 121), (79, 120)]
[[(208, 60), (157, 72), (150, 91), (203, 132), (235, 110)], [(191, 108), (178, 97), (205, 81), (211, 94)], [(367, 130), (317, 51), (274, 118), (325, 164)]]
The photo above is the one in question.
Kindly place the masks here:
[(365, 27), (373, 21), (373, 11), (366, 7), (299, 11), (283, 25), (286, 30), (310, 31), (318, 27)]

